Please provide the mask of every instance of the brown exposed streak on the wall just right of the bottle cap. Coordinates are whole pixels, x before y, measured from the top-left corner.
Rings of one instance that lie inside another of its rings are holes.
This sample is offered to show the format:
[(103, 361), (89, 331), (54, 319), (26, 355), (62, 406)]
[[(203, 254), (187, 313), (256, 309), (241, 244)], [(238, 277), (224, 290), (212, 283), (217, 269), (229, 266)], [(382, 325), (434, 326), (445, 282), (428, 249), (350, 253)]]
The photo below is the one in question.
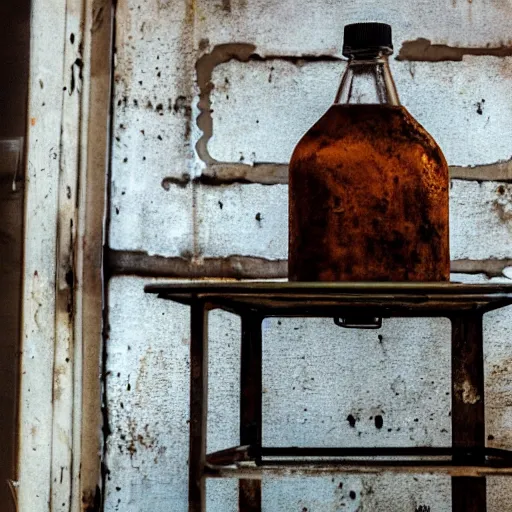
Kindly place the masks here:
[(459, 48), (446, 44), (432, 44), (429, 39), (420, 37), (414, 41), (404, 41), (396, 60), (407, 61), (461, 61), (465, 55), (510, 57), (512, 45), (502, 45), (494, 48)]

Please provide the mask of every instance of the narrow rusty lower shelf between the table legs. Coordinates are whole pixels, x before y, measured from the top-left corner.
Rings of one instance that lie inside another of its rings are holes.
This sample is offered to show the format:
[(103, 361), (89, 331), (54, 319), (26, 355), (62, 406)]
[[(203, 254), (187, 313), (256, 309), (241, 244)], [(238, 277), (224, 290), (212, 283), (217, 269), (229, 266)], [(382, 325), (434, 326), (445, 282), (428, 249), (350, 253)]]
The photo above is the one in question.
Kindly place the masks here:
[(512, 475), (512, 452), (497, 448), (261, 448), (235, 446), (206, 457), (208, 478), (350, 473), (429, 473), (453, 477)]

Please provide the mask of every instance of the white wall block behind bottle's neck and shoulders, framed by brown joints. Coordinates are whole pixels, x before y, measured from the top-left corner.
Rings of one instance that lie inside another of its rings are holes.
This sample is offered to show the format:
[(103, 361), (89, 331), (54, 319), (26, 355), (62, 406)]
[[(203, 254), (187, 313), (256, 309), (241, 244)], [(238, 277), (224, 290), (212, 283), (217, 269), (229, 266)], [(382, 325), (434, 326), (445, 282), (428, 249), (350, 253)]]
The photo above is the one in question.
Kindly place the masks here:
[[(400, 100), (443, 148), (450, 165), (510, 158), (512, 58), (391, 61)], [(341, 62), (230, 61), (215, 68), (209, 149), (225, 162), (288, 163), (302, 134), (332, 104)], [(482, 103), (482, 98), (484, 102)], [(478, 105), (482, 113), (477, 112)], [(276, 116), (275, 112), (279, 112)], [(447, 119), (457, 119), (453, 123)]]

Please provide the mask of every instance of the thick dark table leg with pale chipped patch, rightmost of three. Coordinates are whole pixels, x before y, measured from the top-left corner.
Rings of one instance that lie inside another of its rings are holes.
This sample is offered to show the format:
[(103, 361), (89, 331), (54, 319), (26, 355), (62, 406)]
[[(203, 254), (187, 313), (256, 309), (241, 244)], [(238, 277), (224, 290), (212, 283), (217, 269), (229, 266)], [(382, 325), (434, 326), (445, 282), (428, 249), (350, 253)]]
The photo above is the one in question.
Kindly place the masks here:
[[(452, 444), (485, 447), (482, 314), (478, 312), (452, 319)], [(452, 510), (485, 512), (485, 478), (452, 478)]]

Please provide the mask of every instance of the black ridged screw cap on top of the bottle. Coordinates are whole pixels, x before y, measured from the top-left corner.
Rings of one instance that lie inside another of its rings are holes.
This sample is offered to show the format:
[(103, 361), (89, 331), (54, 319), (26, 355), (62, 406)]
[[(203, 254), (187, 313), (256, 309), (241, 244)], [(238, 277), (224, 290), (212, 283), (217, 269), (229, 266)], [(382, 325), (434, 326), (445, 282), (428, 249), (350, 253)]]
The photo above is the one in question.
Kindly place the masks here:
[(393, 53), (391, 25), (386, 23), (352, 23), (345, 25), (343, 36), (343, 55), (351, 57), (358, 54), (383, 52)]

